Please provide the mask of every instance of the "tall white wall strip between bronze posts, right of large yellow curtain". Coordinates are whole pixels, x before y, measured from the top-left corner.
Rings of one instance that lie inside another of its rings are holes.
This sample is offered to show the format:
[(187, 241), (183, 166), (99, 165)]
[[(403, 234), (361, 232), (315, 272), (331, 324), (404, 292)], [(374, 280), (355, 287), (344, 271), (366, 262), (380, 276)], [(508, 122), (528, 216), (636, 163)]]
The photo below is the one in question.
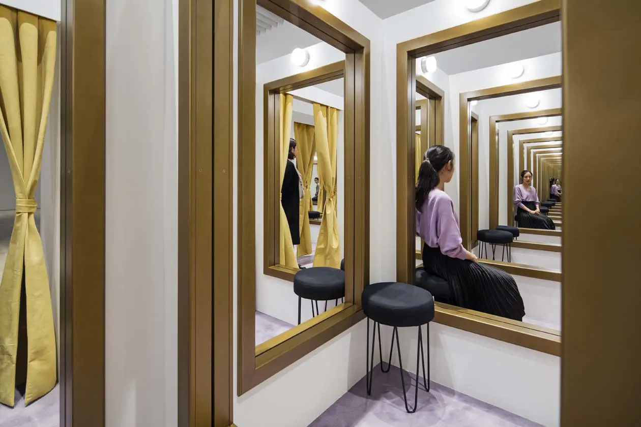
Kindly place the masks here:
[(107, 427), (178, 424), (177, 6), (106, 4)]

